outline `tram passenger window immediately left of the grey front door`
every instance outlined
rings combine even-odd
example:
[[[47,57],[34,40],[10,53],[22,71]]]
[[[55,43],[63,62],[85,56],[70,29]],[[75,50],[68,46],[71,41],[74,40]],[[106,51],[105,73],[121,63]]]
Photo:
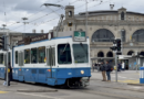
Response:
[[[38,48],[39,63],[45,63],[45,46]]]

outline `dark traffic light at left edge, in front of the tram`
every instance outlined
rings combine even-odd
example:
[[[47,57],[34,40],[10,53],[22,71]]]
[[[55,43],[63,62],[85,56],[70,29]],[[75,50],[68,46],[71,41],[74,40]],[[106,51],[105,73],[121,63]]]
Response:
[[[8,50],[8,37],[6,35],[0,37],[0,50]]]

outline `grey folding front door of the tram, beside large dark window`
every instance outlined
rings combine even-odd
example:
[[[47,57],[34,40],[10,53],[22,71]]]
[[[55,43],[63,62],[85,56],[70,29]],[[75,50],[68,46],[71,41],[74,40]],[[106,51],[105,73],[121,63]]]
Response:
[[[47,47],[47,66],[50,68],[49,70],[49,78],[52,78],[52,68],[55,66],[55,47],[54,46],[48,46]]]

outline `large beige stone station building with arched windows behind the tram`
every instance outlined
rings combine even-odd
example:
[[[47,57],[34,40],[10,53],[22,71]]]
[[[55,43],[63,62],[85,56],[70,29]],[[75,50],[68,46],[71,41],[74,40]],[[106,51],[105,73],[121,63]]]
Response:
[[[74,7],[66,6],[65,19],[60,31],[86,31],[85,14],[85,12],[74,14]],[[123,55],[132,56],[134,53],[144,55],[144,13],[127,11],[125,8],[89,11],[86,34],[90,38],[93,64],[101,61],[114,64],[115,53],[110,50],[114,38],[122,40]],[[126,69],[134,69],[127,58],[122,61],[125,62]]]

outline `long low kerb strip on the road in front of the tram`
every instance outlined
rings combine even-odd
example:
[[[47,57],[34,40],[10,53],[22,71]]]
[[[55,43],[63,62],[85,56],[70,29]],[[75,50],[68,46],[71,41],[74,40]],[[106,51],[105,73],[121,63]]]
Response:
[[[18,92],[56,92],[58,90],[44,90],[44,89],[21,89],[17,90]]]

